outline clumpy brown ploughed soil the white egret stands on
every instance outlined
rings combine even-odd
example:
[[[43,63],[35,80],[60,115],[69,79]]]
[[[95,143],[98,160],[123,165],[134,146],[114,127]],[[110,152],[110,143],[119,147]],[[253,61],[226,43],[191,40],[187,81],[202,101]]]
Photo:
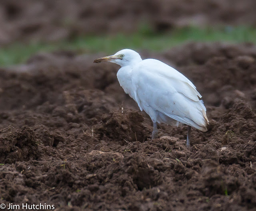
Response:
[[[207,132],[152,124],[118,66],[72,52],[0,70],[0,203],[58,210],[256,210],[256,46],[189,43],[160,54],[192,80]],[[15,71],[14,71],[15,69]],[[123,108],[123,109],[122,109]]]

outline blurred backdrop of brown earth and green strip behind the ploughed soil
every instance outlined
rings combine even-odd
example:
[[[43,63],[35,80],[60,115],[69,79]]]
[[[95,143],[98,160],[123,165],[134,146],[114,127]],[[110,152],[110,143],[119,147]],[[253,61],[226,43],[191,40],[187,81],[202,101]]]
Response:
[[[255,0],[1,0],[0,65],[38,51],[163,50],[187,41],[256,42]]]

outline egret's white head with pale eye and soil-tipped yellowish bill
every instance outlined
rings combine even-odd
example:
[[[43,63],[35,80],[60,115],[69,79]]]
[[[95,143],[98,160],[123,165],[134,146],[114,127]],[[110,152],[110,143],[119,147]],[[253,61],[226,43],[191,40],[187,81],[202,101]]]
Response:
[[[98,59],[95,59],[94,63],[100,63],[103,61],[109,61],[112,63],[116,63],[120,65],[121,67],[128,66],[128,65],[134,65],[135,63],[138,63],[142,61],[140,54],[138,54],[136,51],[133,51],[131,49],[122,49],[111,56],[105,56]]]

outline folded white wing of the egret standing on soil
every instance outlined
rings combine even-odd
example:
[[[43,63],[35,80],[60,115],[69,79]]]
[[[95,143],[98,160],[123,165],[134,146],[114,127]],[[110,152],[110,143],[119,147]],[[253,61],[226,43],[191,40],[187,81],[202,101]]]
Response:
[[[199,130],[207,130],[206,108],[198,99],[202,96],[174,68],[156,59],[145,59],[133,68],[131,81],[135,101],[151,118],[156,118],[152,110],[158,111]]]

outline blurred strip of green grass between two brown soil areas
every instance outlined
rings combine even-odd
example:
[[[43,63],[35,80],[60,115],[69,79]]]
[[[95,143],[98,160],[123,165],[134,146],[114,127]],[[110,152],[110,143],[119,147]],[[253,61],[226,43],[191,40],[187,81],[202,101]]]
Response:
[[[0,66],[24,63],[31,55],[39,51],[72,50],[80,54],[100,51],[114,54],[123,48],[160,51],[188,41],[256,43],[256,28],[246,26],[226,26],[217,29],[186,27],[156,34],[149,27],[142,26],[138,32],[128,35],[88,35],[51,43],[13,43],[0,48]]]

